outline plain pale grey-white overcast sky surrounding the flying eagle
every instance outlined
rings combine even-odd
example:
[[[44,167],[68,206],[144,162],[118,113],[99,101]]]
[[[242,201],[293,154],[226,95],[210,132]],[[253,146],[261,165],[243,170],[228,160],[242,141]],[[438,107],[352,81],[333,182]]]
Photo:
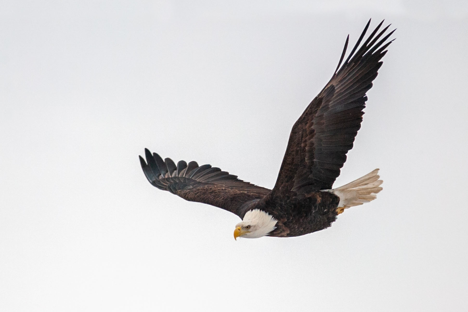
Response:
[[[1,311],[466,311],[466,1],[2,1]],[[398,28],[324,231],[151,186],[138,155],[273,187],[346,35]]]

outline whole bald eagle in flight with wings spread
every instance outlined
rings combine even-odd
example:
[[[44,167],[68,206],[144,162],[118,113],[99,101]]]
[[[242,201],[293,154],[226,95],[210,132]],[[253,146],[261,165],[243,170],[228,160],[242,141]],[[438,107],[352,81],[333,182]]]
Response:
[[[349,35],[331,80],[294,123],[273,189],[237,178],[217,167],[197,162],[177,165],[145,149],[141,167],[148,181],[188,201],[207,203],[241,218],[234,239],[292,237],[320,231],[346,208],[367,203],[382,190],[378,171],[332,189],[361,126],[366,92],[372,87],[380,59],[395,39],[380,32],[382,22],[364,43],[369,22],[344,60]],[[380,40],[379,40],[380,39]]]

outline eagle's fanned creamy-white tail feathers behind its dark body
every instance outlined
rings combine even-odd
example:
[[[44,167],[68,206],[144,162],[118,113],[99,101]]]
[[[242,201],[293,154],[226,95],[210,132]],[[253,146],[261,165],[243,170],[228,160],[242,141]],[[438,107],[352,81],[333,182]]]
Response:
[[[369,203],[377,198],[375,194],[382,190],[380,184],[383,183],[379,178],[379,169],[375,169],[357,180],[329,190],[329,192],[340,197],[340,203],[338,203],[337,208],[338,213],[343,212],[346,208]]]

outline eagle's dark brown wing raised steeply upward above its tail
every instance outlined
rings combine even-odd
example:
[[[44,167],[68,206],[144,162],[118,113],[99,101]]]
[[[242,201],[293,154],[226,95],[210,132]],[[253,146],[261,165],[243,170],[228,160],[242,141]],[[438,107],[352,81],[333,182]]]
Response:
[[[331,189],[340,174],[361,127],[366,92],[377,77],[385,49],[393,41],[386,42],[393,31],[383,36],[390,25],[377,34],[382,21],[358,49],[370,22],[340,67],[348,36],[333,77],[294,123],[272,194]]]

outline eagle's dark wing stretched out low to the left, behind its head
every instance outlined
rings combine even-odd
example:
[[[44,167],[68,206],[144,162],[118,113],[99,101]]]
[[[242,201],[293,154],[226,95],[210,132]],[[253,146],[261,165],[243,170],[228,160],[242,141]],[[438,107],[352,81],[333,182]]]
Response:
[[[145,149],[145,160],[139,156],[141,168],[148,181],[191,202],[207,203],[243,217],[242,204],[260,199],[270,189],[237,179],[236,175],[210,165],[198,166],[181,160],[177,165],[170,158],[162,160]]]

